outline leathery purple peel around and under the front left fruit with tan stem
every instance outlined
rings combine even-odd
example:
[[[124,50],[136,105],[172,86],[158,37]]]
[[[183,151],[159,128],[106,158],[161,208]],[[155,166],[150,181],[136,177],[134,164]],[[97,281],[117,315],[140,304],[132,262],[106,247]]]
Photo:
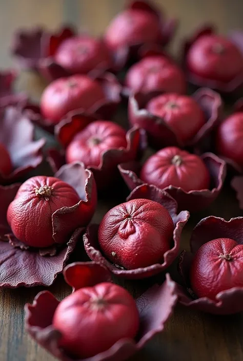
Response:
[[[57,274],[62,272],[76,243],[82,237],[83,226],[89,223],[94,214],[95,182],[92,173],[85,169],[84,165],[66,165],[60,168],[55,176],[69,183],[76,190],[80,201],[75,206],[63,207],[52,215],[53,238],[56,244],[49,248],[27,247],[13,236],[6,215],[20,184],[0,186],[0,287],[50,286]],[[71,237],[64,239],[64,235],[67,235],[67,225],[69,227],[70,222],[77,222],[78,219],[77,229]],[[83,224],[80,223],[80,219]]]

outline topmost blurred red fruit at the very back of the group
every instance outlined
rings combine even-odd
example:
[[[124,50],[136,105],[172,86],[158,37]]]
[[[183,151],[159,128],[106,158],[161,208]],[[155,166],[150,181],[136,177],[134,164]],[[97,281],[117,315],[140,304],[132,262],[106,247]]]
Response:
[[[108,26],[105,35],[106,43],[112,49],[157,43],[159,38],[157,16],[147,11],[132,9],[118,14]]]

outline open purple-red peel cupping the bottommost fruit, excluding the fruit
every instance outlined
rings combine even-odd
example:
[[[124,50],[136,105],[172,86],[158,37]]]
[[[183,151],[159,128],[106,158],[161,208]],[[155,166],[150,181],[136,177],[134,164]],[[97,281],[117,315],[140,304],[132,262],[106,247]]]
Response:
[[[65,268],[64,277],[68,284],[77,290],[110,281],[111,273],[102,263],[76,262]],[[120,339],[109,350],[86,361],[105,361],[108,358],[111,361],[123,361],[143,348],[156,333],[163,331],[177,302],[175,285],[167,274],[163,285],[154,285],[136,300],[140,315],[136,340]],[[38,293],[32,305],[25,305],[26,329],[35,341],[53,356],[62,361],[72,361],[73,358],[58,347],[62,335],[52,326],[53,314],[58,304],[59,301],[49,291]]]

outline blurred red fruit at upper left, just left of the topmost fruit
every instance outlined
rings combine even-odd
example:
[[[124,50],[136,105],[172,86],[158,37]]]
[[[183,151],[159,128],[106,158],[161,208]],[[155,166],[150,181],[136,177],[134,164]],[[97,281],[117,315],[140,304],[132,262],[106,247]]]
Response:
[[[56,62],[73,74],[87,74],[102,65],[108,69],[110,55],[102,41],[89,36],[74,36],[63,41],[55,54]]]

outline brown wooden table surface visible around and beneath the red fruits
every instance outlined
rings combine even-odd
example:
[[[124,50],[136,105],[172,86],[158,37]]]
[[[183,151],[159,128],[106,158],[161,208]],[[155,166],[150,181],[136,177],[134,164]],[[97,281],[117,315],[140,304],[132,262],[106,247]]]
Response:
[[[8,53],[13,31],[18,27],[45,25],[55,29],[62,23],[72,23],[80,29],[88,29],[99,34],[110,19],[122,9],[124,0],[0,0],[0,68],[14,66]],[[219,31],[243,30],[242,0],[155,0],[162,4],[171,16],[181,19],[173,52],[178,50],[178,42],[200,23],[215,22]],[[36,75],[22,74],[21,88],[30,96],[38,98],[43,87]],[[95,221],[99,221],[106,211],[122,202],[119,200],[100,201]],[[1,204],[1,200],[0,200]],[[224,192],[207,210],[193,215],[187,225],[181,248],[188,248],[190,233],[203,217],[215,215],[227,220],[242,216],[237,207],[233,191],[226,186]],[[173,269],[172,269],[172,272]],[[160,276],[160,279],[164,276]],[[124,282],[123,284],[138,295],[152,281]],[[23,307],[32,302],[40,287],[15,290],[0,290],[0,361],[51,361],[54,358],[38,347],[24,329]],[[70,293],[62,277],[49,288],[58,299]],[[243,360],[243,317],[212,316],[190,311],[177,306],[167,324],[166,331],[157,335],[146,348],[130,361],[241,361]]]

